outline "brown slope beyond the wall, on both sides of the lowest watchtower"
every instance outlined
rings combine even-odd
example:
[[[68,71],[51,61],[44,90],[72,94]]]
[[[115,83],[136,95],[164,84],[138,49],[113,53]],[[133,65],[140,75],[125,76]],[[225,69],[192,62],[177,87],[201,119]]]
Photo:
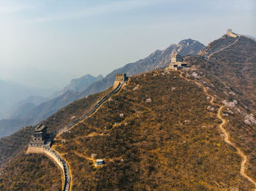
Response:
[[[86,98],[74,101],[72,104],[69,104],[52,116],[48,117],[48,119],[43,121],[43,123],[48,125],[48,133],[64,128],[64,126],[69,124],[69,122],[72,122],[83,114],[86,114],[91,106],[108,93],[108,91],[110,90],[106,90],[103,93],[89,95]],[[25,127],[18,130],[16,133],[13,133],[11,136],[0,139],[0,168],[28,147],[33,128],[35,127]]]

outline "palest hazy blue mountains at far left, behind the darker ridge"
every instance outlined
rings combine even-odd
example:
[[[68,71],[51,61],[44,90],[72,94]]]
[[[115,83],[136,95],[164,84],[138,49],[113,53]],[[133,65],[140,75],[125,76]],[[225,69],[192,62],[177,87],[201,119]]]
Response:
[[[86,74],[83,77],[72,79],[70,84],[55,93],[53,90],[40,90],[39,88],[25,87],[15,82],[0,81],[0,87],[3,91],[1,95],[1,112],[2,119],[0,120],[0,137],[10,135],[18,128],[25,125],[33,125],[33,120],[26,116],[39,104],[45,103],[53,98],[61,96],[64,93],[77,93],[84,90],[91,83],[102,79],[102,75],[93,77]],[[52,93],[50,95],[50,93]],[[34,115],[31,114],[31,117]]]

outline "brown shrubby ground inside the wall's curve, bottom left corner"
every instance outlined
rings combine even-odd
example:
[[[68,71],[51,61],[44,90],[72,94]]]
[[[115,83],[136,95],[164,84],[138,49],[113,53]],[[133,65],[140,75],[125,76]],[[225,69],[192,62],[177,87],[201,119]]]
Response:
[[[61,169],[45,155],[21,155],[0,174],[0,190],[61,190]]]

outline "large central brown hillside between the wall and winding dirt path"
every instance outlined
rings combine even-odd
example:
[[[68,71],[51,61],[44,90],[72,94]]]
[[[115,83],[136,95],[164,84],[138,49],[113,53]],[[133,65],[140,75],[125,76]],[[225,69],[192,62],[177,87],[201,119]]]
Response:
[[[178,73],[133,77],[112,99],[54,144],[72,169],[73,190],[252,187],[239,174],[236,150],[219,135],[217,108],[209,112],[203,90]],[[92,154],[106,165],[95,168]]]

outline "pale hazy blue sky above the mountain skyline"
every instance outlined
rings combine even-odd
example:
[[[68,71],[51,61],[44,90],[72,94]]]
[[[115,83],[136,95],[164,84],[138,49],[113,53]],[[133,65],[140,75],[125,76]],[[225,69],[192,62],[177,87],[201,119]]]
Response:
[[[62,87],[182,39],[256,36],[255,0],[0,0],[0,79]]]

